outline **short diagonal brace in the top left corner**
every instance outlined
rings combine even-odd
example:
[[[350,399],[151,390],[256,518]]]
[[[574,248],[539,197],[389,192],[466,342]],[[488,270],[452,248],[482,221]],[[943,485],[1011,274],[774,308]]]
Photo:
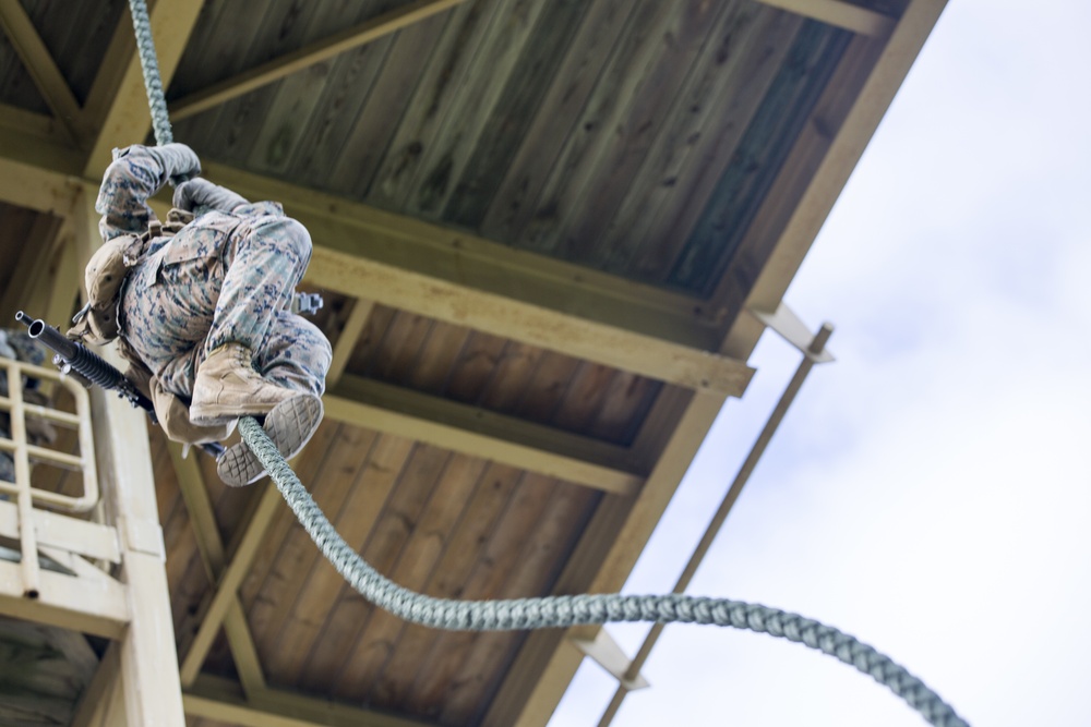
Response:
[[[72,89],[69,88],[68,82],[57,68],[46,44],[38,36],[26,11],[15,0],[0,2],[0,29],[15,47],[15,52],[19,53],[23,65],[34,78],[34,84],[41,92],[41,97],[57,120],[71,138],[83,138],[87,130],[84,126],[80,104],[75,100]]]

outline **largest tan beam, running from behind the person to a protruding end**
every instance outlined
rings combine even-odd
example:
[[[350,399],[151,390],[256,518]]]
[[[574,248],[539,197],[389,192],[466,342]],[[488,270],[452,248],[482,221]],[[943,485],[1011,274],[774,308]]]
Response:
[[[37,182],[50,204],[61,174],[0,160]],[[211,179],[252,199],[287,199],[315,241],[307,280],[687,388],[739,396],[753,371],[709,352],[714,322],[697,299],[507,249],[220,165]],[[40,180],[40,181],[39,181]],[[91,184],[91,181],[82,182]],[[17,185],[12,185],[17,186]],[[3,182],[0,182],[0,198]]]

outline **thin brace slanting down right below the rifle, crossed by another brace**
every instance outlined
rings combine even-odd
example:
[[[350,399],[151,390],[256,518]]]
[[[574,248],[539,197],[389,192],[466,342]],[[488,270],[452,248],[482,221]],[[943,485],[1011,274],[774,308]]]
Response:
[[[208,582],[215,585],[219,582],[226,566],[224,542],[219,536],[216,513],[208,498],[201,467],[193,458],[182,458],[181,445],[170,443],[168,450],[175,474],[178,476],[178,488],[190,513],[190,524],[193,526]],[[250,625],[247,622],[245,611],[238,595],[235,595],[228,604],[224,616],[224,631],[227,634],[228,649],[231,650],[236,670],[239,673],[239,681],[245,693],[254,694],[265,689],[265,677],[262,674],[257,647],[254,645],[254,638],[250,633]]]

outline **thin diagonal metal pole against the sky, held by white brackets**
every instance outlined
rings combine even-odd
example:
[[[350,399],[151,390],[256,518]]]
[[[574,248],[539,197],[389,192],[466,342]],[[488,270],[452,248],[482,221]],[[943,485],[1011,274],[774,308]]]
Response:
[[[672,593],[685,593],[686,587],[690,585],[690,581],[693,580],[694,573],[697,572],[697,568],[705,559],[705,555],[708,553],[709,547],[711,547],[712,541],[716,540],[724,520],[728,519],[728,512],[731,511],[735,500],[739,499],[739,495],[746,485],[746,481],[750,480],[751,475],[754,473],[754,469],[757,467],[758,461],[760,461],[762,455],[765,453],[766,447],[769,446],[772,435],[777,433],[777,428],[783,421],[784,414],[788,413],[788,408],[792,405],[792,401],[795,400],[795,395],[800,392],[803,381],[806,380],[807,374],[811,373],[811,368],[815,363],[814,358],[822,353],[823,349],[826,348],[826,342],[829,340],[832,332],[834,327],[830,324],[823,324],[822,328],[818,329],[818,332],[815,334],[815,337],[811,340],[811,344],[807,347],[808,355],[804,355],[803,361],[800,362],[799,367],[795,369],[795,375],[792,376],[792,379],[788,383],[788,387],[784,389],[784,392],[780,396],[780,400],[774,408],[772,413],[769,414],[769,419],[765,423],[762,434],[758,435],[757,440],[754,441],[754,446],[751,447],[750,453],[746,456],[742,467],[739,469],[739,473],[735,475],[734,482],[731,483],[731,487],[728,489],[727,494],[724,494],[719,509],[717,509],[716,514],[712,516],[711,522],[708,523],[705,534],[702,535],[700,542],[697,543],[697,547],[694,549],[693,555],[690,556],[690,562],[686,564],[685,569],[683,569],[682,574],[679,577],[678,583],[674,584]],[[648,631],[648,635],[645,637],[639,651],[637,651],[636,656],[633,657],[633,662],[628,665],[624,677],[619,682],[618,691],[614,692],[613,699],[610,700],[610,704],[602,713],[602,717],[599,719],[599,727],[608,727],[610,723],[613,722],[614,716],[618,714],[618,710],[621,708],[621,703],[625,700],[625,696],[630,691],[625,688],[625,683],[632,682],[636,679],[637,675],[640,674],[640,669],[644,668],[644,664],[648,661],[651,650],[655,647],[656,642],[659,641],[659,637],[662,634],[664,626],[664,623],[656,623],[651,627],[651,630]]]

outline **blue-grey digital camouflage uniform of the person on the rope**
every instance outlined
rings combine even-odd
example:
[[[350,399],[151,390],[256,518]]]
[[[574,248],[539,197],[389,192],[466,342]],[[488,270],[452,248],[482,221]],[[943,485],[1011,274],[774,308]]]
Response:
[[[99,191],[104,240],[148,229],[145,201],[166,181],[140,146],[115,153]],[[288,312],[311,257],[307,229],[275,202],[199,214],[173,237],[148,242],[129,274],[119,322],[163,388],[191,397],[209,352],[240,343],[267,380],[321,396],[332,352],[321,330]]]

